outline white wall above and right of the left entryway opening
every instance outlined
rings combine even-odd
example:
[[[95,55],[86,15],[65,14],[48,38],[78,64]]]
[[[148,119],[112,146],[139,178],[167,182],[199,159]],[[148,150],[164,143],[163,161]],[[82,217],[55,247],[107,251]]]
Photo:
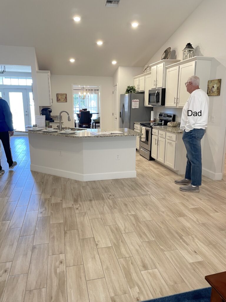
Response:
[[[4,64],[31,66],[35,114],[39,115],[38,90],[36,79],[36,70],[38,69],[38,63],[34,47],[0,45],[0,65]]]

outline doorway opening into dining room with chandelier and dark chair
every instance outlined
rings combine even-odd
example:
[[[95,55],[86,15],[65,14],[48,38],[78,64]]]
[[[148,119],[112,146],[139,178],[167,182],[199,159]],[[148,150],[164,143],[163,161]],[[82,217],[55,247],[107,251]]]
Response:
[[[100,127],[100,86],[73,85],[73,112],[75,127],[80,124],[81,111],[90,112],[89,127]]]

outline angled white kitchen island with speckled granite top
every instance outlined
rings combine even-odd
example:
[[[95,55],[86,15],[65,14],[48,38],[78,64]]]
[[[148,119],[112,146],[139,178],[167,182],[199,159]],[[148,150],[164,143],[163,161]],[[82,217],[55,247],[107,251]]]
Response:
[[[92,132],[121,131],[93,135]],[[79,181],[136,177],[136,131],[77,129],[74,134],[28,132],[30,169]]]

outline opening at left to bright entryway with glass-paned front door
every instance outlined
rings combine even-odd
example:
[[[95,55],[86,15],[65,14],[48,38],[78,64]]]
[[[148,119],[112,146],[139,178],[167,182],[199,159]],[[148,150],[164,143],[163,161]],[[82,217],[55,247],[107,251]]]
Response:
[[[3,65],[2,65],[3,66]],[[0,97],[7,101],[13,115],[14,129],[35,124],[30,66],[4,65],[0,74]],[[2,70],[0,68],[0,72]],[[15,132],[14,135],[24,133]]]

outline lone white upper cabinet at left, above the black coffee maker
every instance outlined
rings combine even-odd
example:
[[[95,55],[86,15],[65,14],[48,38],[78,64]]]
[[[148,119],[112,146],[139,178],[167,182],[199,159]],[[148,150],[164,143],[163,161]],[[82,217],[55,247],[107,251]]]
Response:
[[[50,71],[37,70],[36,76],[37,76],[39,106],[51,106],[52,93],[51,93]]]

